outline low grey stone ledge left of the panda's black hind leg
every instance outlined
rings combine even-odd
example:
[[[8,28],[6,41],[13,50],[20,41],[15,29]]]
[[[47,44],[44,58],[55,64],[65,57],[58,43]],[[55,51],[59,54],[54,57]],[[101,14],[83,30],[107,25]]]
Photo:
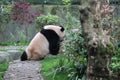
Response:
[[[0,52],[0,63],[19,59],[21,53],[22,52],[18,50],[8,50],[7,52]]]

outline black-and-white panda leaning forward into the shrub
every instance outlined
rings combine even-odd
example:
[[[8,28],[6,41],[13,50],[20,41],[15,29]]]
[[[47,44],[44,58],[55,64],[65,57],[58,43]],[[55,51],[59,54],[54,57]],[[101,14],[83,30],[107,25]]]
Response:
[[[21,61],[42,60],[50,53],[57,55],[60,42],[64,40],[65,30],[62,26],[46,25],[38,32],[21,55]]]

